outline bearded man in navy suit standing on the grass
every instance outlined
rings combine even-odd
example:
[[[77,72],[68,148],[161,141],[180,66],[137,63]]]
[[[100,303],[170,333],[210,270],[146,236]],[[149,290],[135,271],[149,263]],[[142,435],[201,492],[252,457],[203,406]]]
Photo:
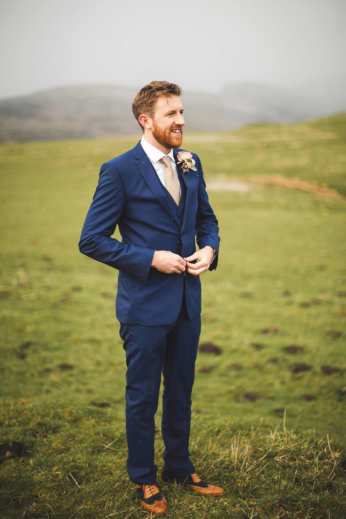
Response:
[[[199,275],[216,268],[219,237],[200,160],[178,155],[185,124],[180,95],[181,88],[167,81],[153,81],[136,95],[132,111],[142,140],[101,167],[79,242],[82,253],[119,270],[128,473],[141,505],[160,515],[168,510],[154,463],[161,371],[162,481],[197,494],[224,494],[199,478],[188,451],[201,328]],[[111,238],[117,225],[121,242]]]

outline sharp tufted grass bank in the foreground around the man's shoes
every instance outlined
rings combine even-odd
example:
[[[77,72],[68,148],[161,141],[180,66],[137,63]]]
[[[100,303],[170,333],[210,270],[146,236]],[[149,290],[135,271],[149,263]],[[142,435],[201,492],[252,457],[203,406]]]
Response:
[[[2,517],[148,516],[129,485],[124,426],[112,411],[36,404],[2,412],[4,439],[27,445],[23,457],[1,466]],[[198,471],[227,495],[206,499],[164,485],[168,517],[343,519],[345,458],[333,441],[215,417],[193,417],[191,436]],[[162,452],[158,433],[160,471]]]

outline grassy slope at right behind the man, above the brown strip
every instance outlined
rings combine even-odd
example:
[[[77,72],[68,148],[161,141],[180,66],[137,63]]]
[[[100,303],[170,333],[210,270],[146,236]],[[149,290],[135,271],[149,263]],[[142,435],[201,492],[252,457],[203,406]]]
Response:
[[[238,178],[280,174],[346,195],[346,113],[295,125],[253,125],[184,141],[209,173]],[[191,143],[191,144],[190,144]]]

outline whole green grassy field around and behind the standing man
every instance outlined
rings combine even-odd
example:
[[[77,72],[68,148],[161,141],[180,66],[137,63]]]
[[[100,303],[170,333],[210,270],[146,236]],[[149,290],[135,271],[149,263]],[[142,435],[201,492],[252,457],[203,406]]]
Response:
[[[345,115],[186,135],[207,181],[297,176],[341,197],[210,193],[222,241],[201,277],[191,457],[227,497],[168,486],[169,517],[346,516],[345,136]],[[101,163],[135,142],[0,147],[2,517],[145,516],[126,473],[117,271],[77,247]],[[159,469],[161,453],[158,432]]]

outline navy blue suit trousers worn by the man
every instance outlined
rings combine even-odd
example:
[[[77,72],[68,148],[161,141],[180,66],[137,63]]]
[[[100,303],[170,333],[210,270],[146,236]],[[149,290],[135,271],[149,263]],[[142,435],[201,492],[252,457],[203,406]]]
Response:
[[[188,319],[183,305],[177,320],[163,326],[120,323],[126,351],[127,468],[136,484],[156,482],[155,413],[163,374],[162,438],[165,472],[195,472],[189,458],[191,391],[201,331],[200,316]]]

